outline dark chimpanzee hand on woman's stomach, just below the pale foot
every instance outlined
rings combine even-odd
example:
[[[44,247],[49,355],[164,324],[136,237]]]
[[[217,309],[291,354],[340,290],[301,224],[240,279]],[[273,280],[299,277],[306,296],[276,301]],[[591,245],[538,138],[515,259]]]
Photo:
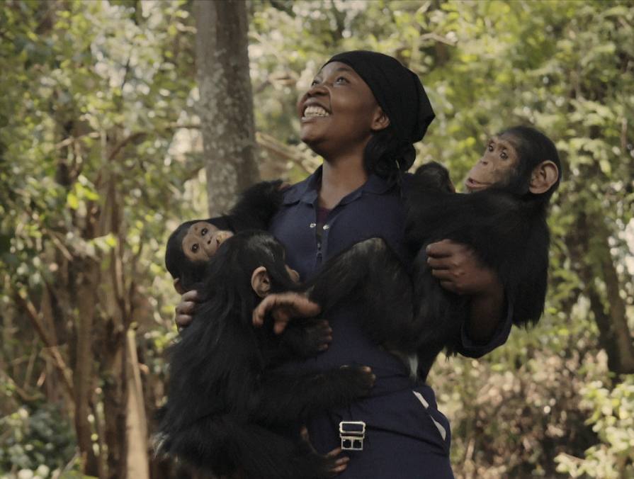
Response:
[[[328,349],[332,342],[332,328],[327,320],[303,320],[285,329],[281,344],[291,356],[310,358]]]

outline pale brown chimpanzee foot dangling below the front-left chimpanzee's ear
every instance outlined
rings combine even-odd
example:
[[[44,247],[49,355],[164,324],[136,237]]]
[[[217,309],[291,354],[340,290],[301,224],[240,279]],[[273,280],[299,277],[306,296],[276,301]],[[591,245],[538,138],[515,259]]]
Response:
[[[322,311],[322,308],[302,293],[270,294],[253,310],[253,325],[256,327],[263,325],[268,311],[271,311],[275,321],[273,331],[281,334],[293,317],[314,317]]]

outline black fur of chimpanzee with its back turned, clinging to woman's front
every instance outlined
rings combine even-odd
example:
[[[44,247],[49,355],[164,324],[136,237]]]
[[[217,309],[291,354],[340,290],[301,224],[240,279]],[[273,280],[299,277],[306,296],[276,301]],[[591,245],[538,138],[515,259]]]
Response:
[[[255,328],[251,318],[260,301],[250,281],[258,266],[266,267],[271,292],[298,291],[283,247],[268,233],[241,232],[220,245],[197,288],[203,303],[171,349],[159,452],[216,475],[330,477],[335,458],[276,430],[367,395],[373,375],[356,366],[295,375],[271,371],[279,338],[270,324]]]

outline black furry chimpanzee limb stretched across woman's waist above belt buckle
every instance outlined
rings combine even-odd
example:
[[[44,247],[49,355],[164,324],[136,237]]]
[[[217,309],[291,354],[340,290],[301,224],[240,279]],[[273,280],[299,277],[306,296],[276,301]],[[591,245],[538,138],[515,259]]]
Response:
[[[368,395],[374,384],[369,368],[346,366],[322,373],[268,373],[250,407],[255,422],[296,422],[310,412],[348,405]]]

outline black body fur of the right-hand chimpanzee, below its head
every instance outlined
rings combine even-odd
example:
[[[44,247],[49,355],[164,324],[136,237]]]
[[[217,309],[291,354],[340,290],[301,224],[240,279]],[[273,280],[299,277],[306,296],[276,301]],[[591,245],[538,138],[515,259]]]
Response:
[[[421,167],[407,193],[407,239],[421,246],[413,282],[418,300],[414,321],[419,330],[419,376],[423,378],[443,347],[455,352],[469,314],[468,296],[447,291],[432,276],[426,261],[428,244],[451,239],[472,247],[482,263],[497,272],[515,325],[539,320],[548,283],[550,194],[518,193],[516,184],[451,193],[448,174],[439,175],[439,169],[445,170],[436,163]],[[528,184],[528,177],[523,182]]]

